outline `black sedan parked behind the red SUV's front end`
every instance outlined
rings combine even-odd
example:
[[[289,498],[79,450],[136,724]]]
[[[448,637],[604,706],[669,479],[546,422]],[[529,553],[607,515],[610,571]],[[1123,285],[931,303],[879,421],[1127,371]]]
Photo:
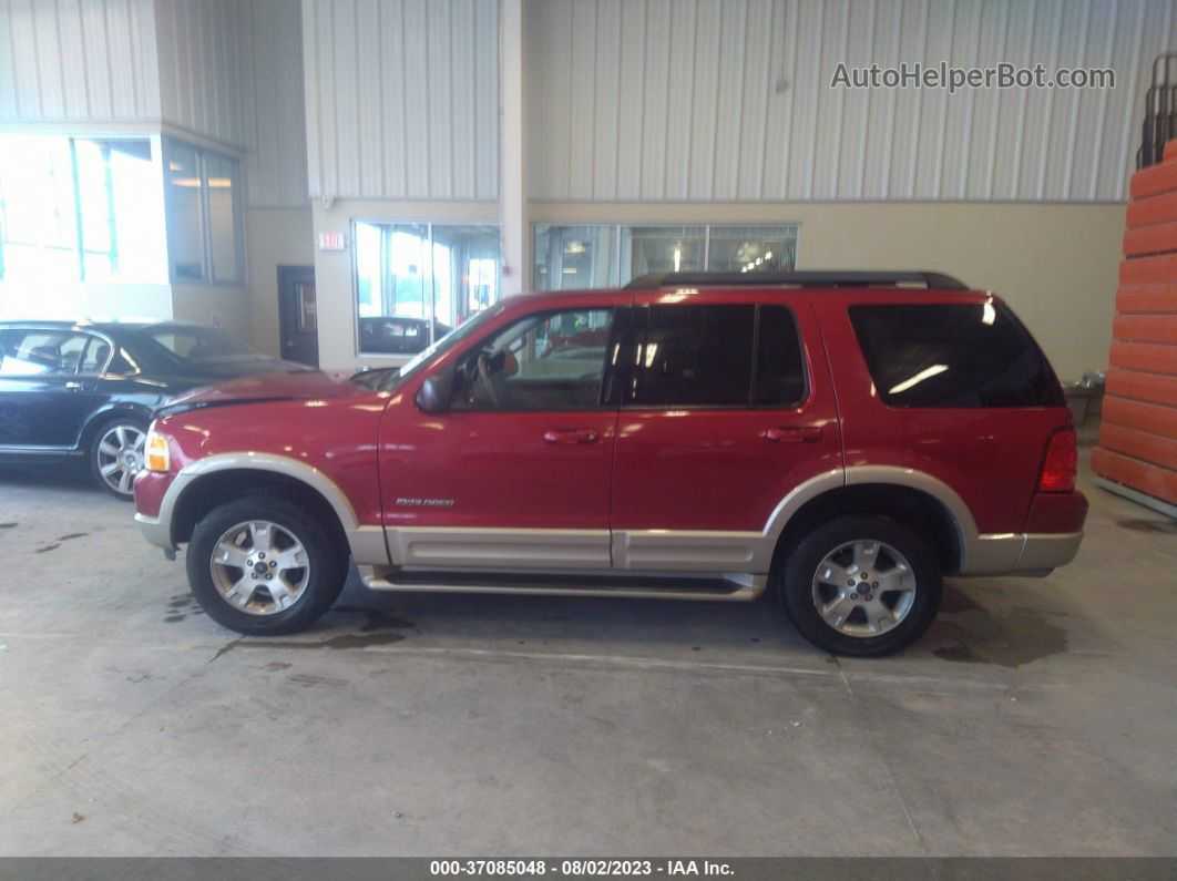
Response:
[[[0,463],[86,456],[99,486],[132,498],[152,411],[180,392],[308,369],[212,327],[179,322],[0,322]]]

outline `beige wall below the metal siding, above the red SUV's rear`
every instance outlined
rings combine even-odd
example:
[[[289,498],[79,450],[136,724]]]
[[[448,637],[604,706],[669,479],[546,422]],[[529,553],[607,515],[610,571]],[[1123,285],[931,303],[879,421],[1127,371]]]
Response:
[[[937,269],[1005,299],[1060,379],[1104,369],[1124,206],[533,202],[532,222],[799,222],[799,269]]]

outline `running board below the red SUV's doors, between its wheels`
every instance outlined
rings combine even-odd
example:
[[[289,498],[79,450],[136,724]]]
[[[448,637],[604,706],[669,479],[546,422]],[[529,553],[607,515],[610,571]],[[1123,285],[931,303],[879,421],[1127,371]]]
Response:
[[[360,566],[370,590],[428,593],[537,594],[566,596],[630,596],[661,600],[754,600],[764,593],[767,575],[698,574],[649,575],[630,573],[444,572]]]

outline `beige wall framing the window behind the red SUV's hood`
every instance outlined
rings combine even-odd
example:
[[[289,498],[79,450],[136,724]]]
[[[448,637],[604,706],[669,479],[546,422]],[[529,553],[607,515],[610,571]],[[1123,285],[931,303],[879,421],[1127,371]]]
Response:
[[[340,232],[344,251],[314,252],[314,282],[319,301],[319,366],[353,369],[404,363],[395,355],[365,355],[355,349],[355,293],[352,282],[352,220],[497,221],[498,202],[400,202],[339,200],[330,208],[314,202],[314,232]]]

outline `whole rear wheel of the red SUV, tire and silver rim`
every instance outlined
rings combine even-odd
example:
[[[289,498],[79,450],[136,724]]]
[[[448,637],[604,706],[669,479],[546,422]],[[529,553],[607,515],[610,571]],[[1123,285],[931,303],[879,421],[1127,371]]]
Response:
[[[842,655],[892,654],[919,639],[940,607],[936,554],[912,529],[880,516],[844,516],[790,555],[782,593],[793,625]]]

